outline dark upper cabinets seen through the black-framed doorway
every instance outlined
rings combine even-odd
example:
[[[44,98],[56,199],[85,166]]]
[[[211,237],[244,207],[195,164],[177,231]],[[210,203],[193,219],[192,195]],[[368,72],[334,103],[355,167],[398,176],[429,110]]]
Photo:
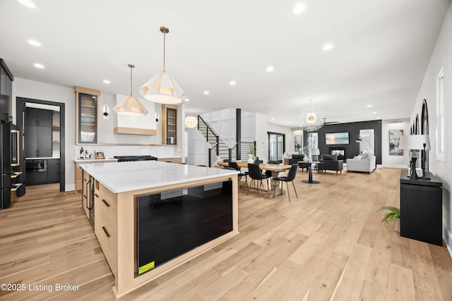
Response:
[[[25,111],[25,158],[52,156],[53,111],[27,108]]]

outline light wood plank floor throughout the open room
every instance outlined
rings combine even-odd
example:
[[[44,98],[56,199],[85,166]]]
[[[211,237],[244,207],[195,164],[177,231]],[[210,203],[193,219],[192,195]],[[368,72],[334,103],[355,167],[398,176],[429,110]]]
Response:
[[[321,184],[309,185],[299,171],[291,203],[241,188],[239,235],[121,300],[452,300],[446,247],[381,223],[376,209],[399,204],[399,173],[314,173]],[[57,191],[28,187],[0,211],[0,283],[26,285],[0,291],[0,300],[114,299],[80,195]],[[78,291],[55,291],[56,283]]]

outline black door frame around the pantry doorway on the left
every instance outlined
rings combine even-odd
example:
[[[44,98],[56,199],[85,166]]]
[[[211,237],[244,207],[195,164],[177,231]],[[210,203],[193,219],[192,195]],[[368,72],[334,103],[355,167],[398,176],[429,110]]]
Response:
[[[48,104],[50,106],[59,106],[59,191],[64,192],[65,186],[66,186],[66,155],[64,152],[65,149],[65,141],[64,141],[64,103],[62,102],[49,102],[48,100],[40,100],[40,99],[31,99],[31,98],[25,98],[25,97],[16,97],[16,123],[22,133],[21,139],[20,139],[20,149],[22,152],[22,158],[24,161],[24,164],[20,164],[20,171],[22,171],[23,179],[24,179],[24,194],[25,194],[25,184],[26,184],[26,178],[25,178],[25,147],[24,147],[24,123],[23,120],[23,110],[25,109],[25,103],[31,103],[31,104]]]

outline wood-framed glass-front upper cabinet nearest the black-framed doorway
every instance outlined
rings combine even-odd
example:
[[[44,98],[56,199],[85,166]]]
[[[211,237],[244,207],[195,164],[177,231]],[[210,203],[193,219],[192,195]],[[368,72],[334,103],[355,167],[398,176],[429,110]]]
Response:
[[[97,144],[99,90],[76,87],[77,144]]]

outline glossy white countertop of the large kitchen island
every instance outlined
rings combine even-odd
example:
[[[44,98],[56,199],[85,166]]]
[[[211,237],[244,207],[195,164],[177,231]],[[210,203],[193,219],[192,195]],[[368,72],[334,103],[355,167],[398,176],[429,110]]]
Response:
[[[80,167],[114,193],[164,185],[208,180],[238,174],[223,168],[208,168],[162,161],[128,161],[81,164]]]

